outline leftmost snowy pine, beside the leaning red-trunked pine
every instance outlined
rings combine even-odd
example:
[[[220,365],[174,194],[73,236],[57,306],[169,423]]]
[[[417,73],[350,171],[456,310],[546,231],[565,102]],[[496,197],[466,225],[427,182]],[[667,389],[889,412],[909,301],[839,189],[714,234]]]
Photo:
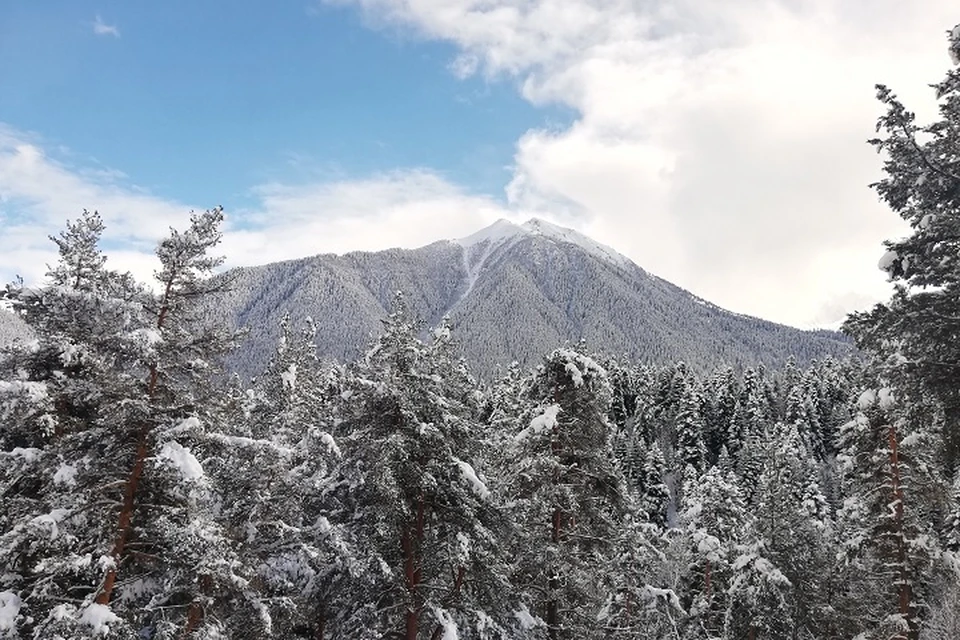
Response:
[[[87,637],[131,632],[93,602],[110,531],[111,404],[129,398],[151,350],[145,292],[105,269],[103,223],[84,211],[59,237],[59,260],[39,287],[4,297],[35,341],[0,356],[0,589],[14,603],[12,633]],[[108,625],[109,623],[109,625]]]

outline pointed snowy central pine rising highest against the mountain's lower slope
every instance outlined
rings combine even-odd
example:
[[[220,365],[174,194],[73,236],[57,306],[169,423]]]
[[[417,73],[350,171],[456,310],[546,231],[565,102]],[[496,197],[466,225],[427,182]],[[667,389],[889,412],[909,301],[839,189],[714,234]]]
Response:
[[[363,545],[369,580],[340,594],[332,631],[525,637],[532,627],[513,613],[494,496],[473,464],[479,428],[442,376],[452,365],[417,333],[398,294],[346,383],[335,491],[345,506],[331,517],[345,518]]]

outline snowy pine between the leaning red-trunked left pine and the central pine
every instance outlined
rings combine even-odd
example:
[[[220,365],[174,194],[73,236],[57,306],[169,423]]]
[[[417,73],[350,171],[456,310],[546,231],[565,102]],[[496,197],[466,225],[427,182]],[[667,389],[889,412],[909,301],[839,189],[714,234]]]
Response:
[[[360,565],[349,530],[328,516],[327,499],[340,460],[333,438],[334,375],[322,367],[307,319],[295,332],[284,318],[274,358],[252,388],[236,393],[216,454],[205,462],[222,478],[218,519],[238,541],[238,555],[262,592],[262,607],[238,607],[231,638],[256,638],[269,616],[274,635],[320,640],[333,592]]]

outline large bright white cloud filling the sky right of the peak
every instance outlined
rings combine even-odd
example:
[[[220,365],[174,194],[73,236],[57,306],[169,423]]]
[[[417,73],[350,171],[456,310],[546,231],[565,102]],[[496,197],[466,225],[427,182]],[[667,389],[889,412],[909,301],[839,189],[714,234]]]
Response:
[[[832,323],[825,310],[852,308],[828,301],[886,295],[875,256],[904,227],[866,187],[873,85],[931,113],[954,3],[338,1],[455,44],[457,75],[512,77],[531,103],[579,114],[518,141],[512,207],[783,322]]]

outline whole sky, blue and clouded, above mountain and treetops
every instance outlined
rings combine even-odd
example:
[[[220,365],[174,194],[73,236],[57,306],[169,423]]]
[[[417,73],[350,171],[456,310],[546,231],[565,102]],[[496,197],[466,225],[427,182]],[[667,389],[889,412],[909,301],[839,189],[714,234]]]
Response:
[[[576,228],[716,304],[833,325],[889,294],[866,185],[956,0],[0,0],[0,281],[83,208],[148,278],[191,208],[227,264]]]

